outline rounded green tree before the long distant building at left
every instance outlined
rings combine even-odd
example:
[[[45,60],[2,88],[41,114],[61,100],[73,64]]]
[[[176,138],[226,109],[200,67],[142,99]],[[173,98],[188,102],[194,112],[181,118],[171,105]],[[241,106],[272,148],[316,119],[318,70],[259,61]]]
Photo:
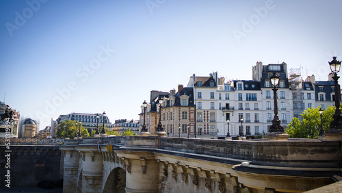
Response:
[[[64,120],[58,127],[56,136],[57,138],[64,138],[64,126],[65,126],[65,138],[73,139],[75,137],[76,121]],[[79,121],[77,121],[77,133],[79,133]],[[89,132],[81,125],[81,136],[89,137]]]

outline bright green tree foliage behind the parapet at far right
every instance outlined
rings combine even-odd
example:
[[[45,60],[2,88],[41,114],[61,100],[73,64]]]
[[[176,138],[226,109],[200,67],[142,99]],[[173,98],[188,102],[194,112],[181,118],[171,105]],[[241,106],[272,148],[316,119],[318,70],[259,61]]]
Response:
[[[335,107],[329,106],[322,114],[322,123],[324,131],[327,131],[332,121]],[[319,107],[313,109],[308,108],[302,114],[302,121],[298,118],[293,118],[289,125],[287,125],[286,133],[290,138],[317,138],[319,130],[321,129],[321,116],[319,114]]]

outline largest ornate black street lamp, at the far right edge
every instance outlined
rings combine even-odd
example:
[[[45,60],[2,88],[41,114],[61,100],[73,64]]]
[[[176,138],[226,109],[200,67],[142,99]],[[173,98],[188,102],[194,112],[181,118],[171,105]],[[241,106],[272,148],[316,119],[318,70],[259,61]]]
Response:
[[[340,90],[339,90],[339,76],[337,76],[337,73],[339,73],[340,68],[341,68],[341,61],[336,60],[336,56],[332,57],[333,60],[329,62],[331,72],[334,73],[334,76],[332,79],[334,79],[334,89],[335,89],[335,113],[333,115],[333,120],[330,123],[330,128],[327,133],[336,133],[336,135],[341,136],[341,131],[342,131],[342,115],[341,115],[341,109],[340,109]],[[339,134],[338,134],[339,133]],[[326,135],[327,136],[327,135]],[[331,136],[328,134],[328,136]],[[341,137],[339,137],[341,140]]]

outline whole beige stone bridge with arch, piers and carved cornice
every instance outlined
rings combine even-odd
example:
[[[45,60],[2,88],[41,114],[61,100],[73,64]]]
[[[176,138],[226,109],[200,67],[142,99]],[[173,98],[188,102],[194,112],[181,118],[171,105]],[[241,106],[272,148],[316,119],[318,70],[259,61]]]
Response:
[[[304,192],[342,166],[339,141],[120,136],[60,149],[63,192]]]

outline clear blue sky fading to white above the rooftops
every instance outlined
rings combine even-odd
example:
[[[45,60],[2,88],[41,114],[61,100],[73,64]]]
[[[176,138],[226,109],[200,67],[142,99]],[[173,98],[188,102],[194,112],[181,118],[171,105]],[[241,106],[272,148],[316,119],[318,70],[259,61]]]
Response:
[[[338,0],[2,0],[0,101],[5,93],[44,129],[71,112],[137,119],[150,90],[186,85],[194,73],[251,79],[257,61],[326,80],[332,55],[342,60],[341,8]]]

